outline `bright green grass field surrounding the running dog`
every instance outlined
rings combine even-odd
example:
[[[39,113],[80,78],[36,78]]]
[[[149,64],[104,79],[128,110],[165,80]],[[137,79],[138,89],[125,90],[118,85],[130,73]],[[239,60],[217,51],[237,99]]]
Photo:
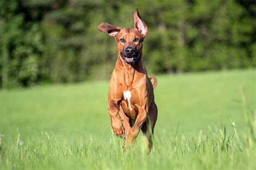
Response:
[[[255,69],[157,78],[151,153],[122,150],[107,81],[1,91],[0,169],[256,168]]]

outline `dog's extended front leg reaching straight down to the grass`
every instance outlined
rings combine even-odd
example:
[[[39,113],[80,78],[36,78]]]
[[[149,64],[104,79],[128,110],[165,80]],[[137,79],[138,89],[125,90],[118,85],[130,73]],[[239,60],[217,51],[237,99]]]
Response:
[[[142,125],[146,121],[147,117],[147,111],[144,108],[138,109],[138,116],[136,118],[136,121],[132,128],[130,129],[129,133],[127,134],[124,146],[132,145],[136,139],[136,137],[139,134],[140,129],[142,128]]]

